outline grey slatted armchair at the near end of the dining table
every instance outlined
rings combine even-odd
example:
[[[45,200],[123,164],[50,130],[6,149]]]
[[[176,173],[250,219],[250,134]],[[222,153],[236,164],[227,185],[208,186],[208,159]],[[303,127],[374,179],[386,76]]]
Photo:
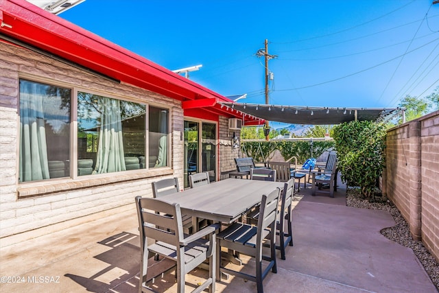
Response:
[[[154,292],[146,284],[149,253],[176,261],[179,293],[185,292],[185,275],[209,259],[209,278],[193,292],[202,292],[208,287],[209,292],[215,292],[215,231],[219,224],[207,226],[193,235],[185,235],[179,204],[137,196],[136,206],[141,240],[139,293]],[[209,239],[205,239],[206,236]],[[154,240],[154,244],[148,245],[148,240]]]

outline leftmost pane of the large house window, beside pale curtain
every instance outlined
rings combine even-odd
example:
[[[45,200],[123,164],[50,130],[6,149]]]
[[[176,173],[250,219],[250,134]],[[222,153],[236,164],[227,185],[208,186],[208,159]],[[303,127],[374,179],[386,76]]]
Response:
[[[19,182],[70,176],[71,89],[20,80]]]

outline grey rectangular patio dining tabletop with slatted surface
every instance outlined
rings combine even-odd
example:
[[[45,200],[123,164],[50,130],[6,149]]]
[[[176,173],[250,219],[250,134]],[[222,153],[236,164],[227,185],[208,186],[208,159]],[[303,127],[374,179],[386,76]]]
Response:
[[[178,203],[182,213],[213,222],[232,223],[261,202],[264,194],[283,188],[281,182],[228,178],[169,194],[160,199]]]

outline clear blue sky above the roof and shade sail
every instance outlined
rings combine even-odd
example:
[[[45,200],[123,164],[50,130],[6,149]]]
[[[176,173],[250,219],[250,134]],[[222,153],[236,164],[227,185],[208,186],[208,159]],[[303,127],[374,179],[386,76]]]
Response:
[[[433,0],[86,0],[60,14],[239,102],[392,108],[439,86],[439,4]]]

